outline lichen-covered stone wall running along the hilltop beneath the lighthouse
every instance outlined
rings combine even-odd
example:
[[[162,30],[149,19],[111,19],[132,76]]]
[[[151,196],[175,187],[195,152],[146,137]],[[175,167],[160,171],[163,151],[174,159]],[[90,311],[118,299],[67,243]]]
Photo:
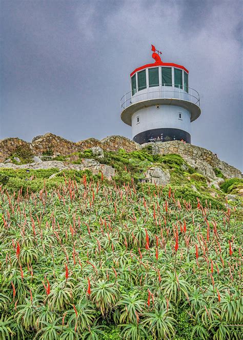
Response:
[[[171,141],[164,143],[147,143],[139,145],[130,139],[122,136],[109,136],[101,141],[95,138],[85,139],[80,142],[71,142],[65,138],[56,136],[52,133],[46,133],[34,137],[31,143],[22,141],[19,138],[6,138],[0,141],[0,162],[5,162],[10,156],[16,155],[16,151],[25,149],[25,153],[33,154],[35,156],[58,156],[58,155],[70,155],[72,154],[72,161],[75,161],[75,152],[83,152],[86,149],[93,149],[93,153],[99,153],[102,157],[103,153],[100,150],[117,151],[124,149],[127,152],[141,150],[144,147],[150,146],[152,153],[154,154],[168,154],[175,153],[185,159],[185,161],[196,169],[197,172],[206,175],[209,178],[216,179],[215,169],[219,169],[226,178],[239,177],[241,178],[241,172],[227,164],[220,161],[220,159],[211,151],[197,147],[191,144],[184,144],[180,141]],[[70,159],[71,161],[71,159]],[[37,162],[38,163],[38,162]]]

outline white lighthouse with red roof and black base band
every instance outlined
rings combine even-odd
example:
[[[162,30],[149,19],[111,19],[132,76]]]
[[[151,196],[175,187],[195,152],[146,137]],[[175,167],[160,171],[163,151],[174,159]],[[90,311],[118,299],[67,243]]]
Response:
[[[199,93],[189,87],[189,71],[161,61],[152,45],[154,62],[130,74],[130,91],[120,100],[122,121],[132,127],[133,141],[191,143],[191,122],[201,113]]]

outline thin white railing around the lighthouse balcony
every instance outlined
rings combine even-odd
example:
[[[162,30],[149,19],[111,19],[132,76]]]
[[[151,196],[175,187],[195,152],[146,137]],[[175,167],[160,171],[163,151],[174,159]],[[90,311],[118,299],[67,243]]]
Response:
[[[156,87],[146,87],[145,89],[136,92],[133,90],[125,93],[122,98],[120,98],[120,107],[123,111],[135,103],[160,98],[180,99],[200,106],[199,93],[191,87],[188,87],[187,92],[184,89],[179,88],[179,86],[159,85]]]

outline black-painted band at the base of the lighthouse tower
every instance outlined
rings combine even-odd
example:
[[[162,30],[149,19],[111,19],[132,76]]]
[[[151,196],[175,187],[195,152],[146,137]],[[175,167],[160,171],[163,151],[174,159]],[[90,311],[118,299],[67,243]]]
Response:
[[[138,144],[144,144],[148,142],[181,141],[181,139],[191,144],[191,135],[189,132],[173,128],[146,130],[136,134],[133,137],[133,141]]]

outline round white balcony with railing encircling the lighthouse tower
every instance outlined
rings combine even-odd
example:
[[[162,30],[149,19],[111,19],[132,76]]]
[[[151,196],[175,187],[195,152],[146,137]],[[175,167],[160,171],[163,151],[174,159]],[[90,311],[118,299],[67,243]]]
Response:
[[[129,91],[120,99],[121,118],[124,123],[131,125],[134,112],[154,105],[181,106],[191,112],[191,122],[200,115],[200,96],[191,87],[188,92],[175,86],[146,87],[143,90]]]

